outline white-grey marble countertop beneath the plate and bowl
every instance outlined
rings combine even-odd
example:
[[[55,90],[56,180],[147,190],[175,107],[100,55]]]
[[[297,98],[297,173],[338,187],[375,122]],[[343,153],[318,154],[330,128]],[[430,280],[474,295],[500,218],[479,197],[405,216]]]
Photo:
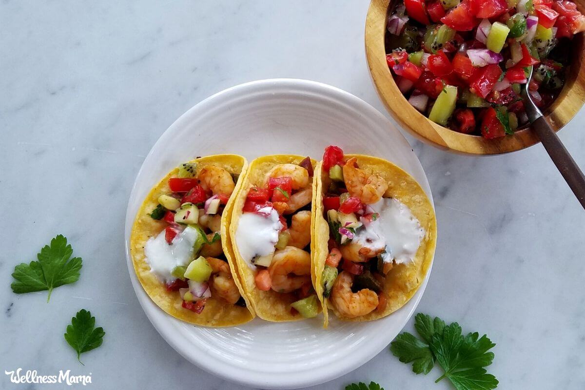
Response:
[[[246,81],[317,80],[378,101],[364,56],[367,1],[0,2],[0,369],[92,374],[92,386],[236,389],[194,367],[150,325],[130,285],[123,224],[144,156],[182,113]],[[585,167],[585,111],[559,133]],[[487,333],[502,389],[585,388],[585,212],[541,145],[448,154],[408,137],[439,224],[419,312]],[[84,260],[77,284],[15,295],[15,264],[58,233]],[[63,333],[91,310],[104,345]],[[407,330],[412,329],[412,320]],[[314,389],[376,381],[449,389],[386,349]],[[0,378],[0,388],[24,388]],[[50,387],[50,386],[49,386]],[[45,388],[37,385],[30,388]],[[56,388],[53,385],[53,388]]]

